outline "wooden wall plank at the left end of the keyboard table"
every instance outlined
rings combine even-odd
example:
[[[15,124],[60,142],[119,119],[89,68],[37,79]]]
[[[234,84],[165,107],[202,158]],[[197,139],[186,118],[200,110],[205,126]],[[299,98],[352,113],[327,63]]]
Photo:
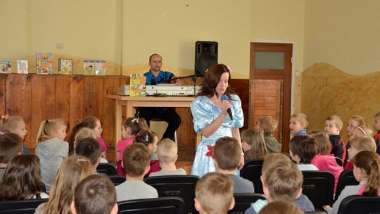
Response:
[[[116,128],[121,127],[115,127],[115,101],[111,99],[106,99],[107,94],[115,94],[114,92],[114,85],[115,85],[115,76],[106,76],[104,77],[103,82],[103,92],[101,94],[101,97],[103,97],[103,115],[102,115],[102,121],[103,121],[103,134],[102,137],[106,141],[107,146],[115,146],[116,142],[113,139],[113,133]]]

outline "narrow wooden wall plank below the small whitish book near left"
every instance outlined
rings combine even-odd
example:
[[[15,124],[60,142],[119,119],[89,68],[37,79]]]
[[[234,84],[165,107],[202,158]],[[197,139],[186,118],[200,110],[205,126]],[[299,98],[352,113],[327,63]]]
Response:
[[[32,139],[32,75],[25,74],[20,76],[23,78],[23,119],[27,130],[24,144],[27,148],[34,148],[36,142],[35,139]]]

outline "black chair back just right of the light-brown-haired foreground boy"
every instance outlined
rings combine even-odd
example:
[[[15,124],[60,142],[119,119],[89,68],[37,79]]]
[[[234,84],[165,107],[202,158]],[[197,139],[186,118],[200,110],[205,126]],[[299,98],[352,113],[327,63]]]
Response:
[[[302,171],[302,193],[308,196],[315,210],[332,205],[335,177],[328,171]]]

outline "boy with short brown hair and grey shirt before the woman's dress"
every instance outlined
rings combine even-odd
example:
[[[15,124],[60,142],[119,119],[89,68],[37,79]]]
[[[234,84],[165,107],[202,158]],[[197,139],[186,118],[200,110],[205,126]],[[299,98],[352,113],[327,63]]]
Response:
[[[233,137],[220,137],[214,146],[214,164],[217,172],[227,175],[234,181],[234,194],[254,193],[253,183],[237,176],[241,160],[241,146]]]

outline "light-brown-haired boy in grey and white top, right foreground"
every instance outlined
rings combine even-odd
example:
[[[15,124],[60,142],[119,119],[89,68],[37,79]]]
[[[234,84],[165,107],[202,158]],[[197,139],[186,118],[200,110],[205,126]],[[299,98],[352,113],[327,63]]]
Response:
[[[252,203],[246,214],[258,213],[267,203],[277,200],[293,201],[304,212],[315,211],[308,197],[302,194],[302,172],[284,154],[272,153],[265,157],[261,182],[267,200]]]

